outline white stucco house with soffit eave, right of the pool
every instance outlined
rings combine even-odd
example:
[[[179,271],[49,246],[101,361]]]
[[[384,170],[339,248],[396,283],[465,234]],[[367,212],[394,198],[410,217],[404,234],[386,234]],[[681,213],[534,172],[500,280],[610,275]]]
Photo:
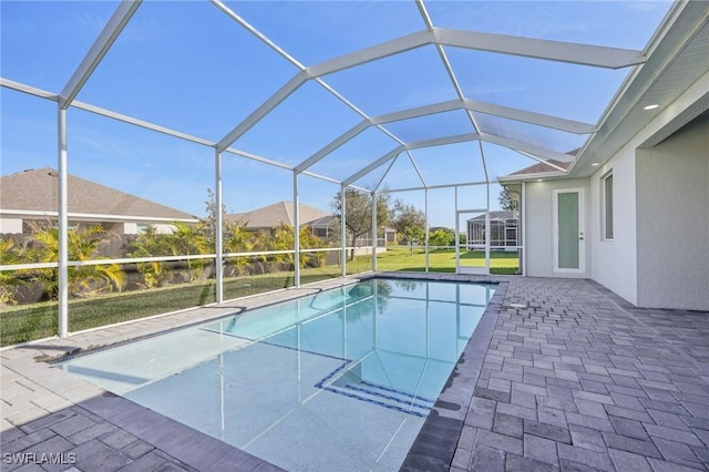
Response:
[[[537,164],[499,178],[522,202],[525,275],[589,278],[639,307],[709,310],[702,21],[657,34],[565,171]]]

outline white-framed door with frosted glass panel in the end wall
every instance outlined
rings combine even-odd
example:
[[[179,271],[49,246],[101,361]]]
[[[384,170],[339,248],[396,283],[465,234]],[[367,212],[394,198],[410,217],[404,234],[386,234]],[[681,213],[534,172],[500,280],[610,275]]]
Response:
[[[583,274],[586,260],[584,189],[563,188],[554,198],[554,270]]]

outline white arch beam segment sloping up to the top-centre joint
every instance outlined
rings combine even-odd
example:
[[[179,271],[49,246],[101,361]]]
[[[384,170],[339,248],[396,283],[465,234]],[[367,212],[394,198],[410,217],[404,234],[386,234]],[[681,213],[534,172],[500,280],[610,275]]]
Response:
[[[307,71],[311,78],[319,78],[331,74],[332,72],[353,68],[354,65],[364,64],[367,62],[372,62],[378,59],[431,44],[434,39],[432,31],[418,31],[391,41],[372,45],[371,48],[366,48],[360,51],[354,51],[352,53],[311,65]]]

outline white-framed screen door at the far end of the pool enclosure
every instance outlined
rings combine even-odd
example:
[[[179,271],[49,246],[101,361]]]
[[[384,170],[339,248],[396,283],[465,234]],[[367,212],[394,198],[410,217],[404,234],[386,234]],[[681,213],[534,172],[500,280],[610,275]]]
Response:
[[[490,274],[490,213],[461,209],[455,218],[455,273]]]

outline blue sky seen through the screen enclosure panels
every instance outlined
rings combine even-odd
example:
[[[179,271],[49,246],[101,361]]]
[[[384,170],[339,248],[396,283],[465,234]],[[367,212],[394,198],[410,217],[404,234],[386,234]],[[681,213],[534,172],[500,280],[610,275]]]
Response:
[[[240,2],[226,4],[305,65],[424,29],[413,1]],[[2,78],[58,93],[80,64],[114,1],[6,1],[1,8]],[[429,1],[436,27],[641,50],[668,10],[666,1]],[[596,123],[628,73],[445,48],[466,98]],[[78,100],[219,141],[287,82],[297,68],[206,1],[145,1]],[[323,80],[370,116],[455,99],[433,47],[343,70]],[[1,174],[56,167],[55,104],[0,90]],[[585,136],[476,114],[489,132],[558,152]],[[309,81],[235,144],[295,165],[361,121]],[[214,188],[214,150],[71,109],[69,172],[201,215]],[[472,132],[461,111],[392,123],[405,142]],[[311,170],[346,178],[397,146],[370,129]],[[491,178],[533,164],[483,144]],[[480,146],[462,143],[412,151],[427,184],[484,179]],[[386,166],[388,167],[388,166]],[[386,167],[358,182],[374,185]],[[401,154],[389,188],[420,186]],[[224,201],[246,212],[292,199],[292,174],[243,157],[224,157]],[[329,208],[338,186],[300,178],[302,203]],[[492,206],[499,188],[492,189]],[[423,192],[392,195],[423,208]],[[429,193],[430,224],[454,225],[452,191]],[[484,192],[459,193],[461,207],[485,205]]]

